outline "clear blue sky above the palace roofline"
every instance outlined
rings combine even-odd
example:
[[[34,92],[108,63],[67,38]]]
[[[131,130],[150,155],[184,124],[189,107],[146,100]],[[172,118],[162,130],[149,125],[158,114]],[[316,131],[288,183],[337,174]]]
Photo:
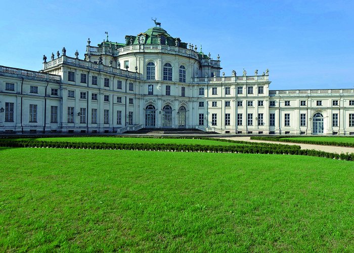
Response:
[[[353,1],[4,1],[0,65],[40,70],[42,56],[83,57],[154,26],[198,46],[226,75],[270,70],[271,89],[354,88]],[[6,11],[4,11],[6,10]]]

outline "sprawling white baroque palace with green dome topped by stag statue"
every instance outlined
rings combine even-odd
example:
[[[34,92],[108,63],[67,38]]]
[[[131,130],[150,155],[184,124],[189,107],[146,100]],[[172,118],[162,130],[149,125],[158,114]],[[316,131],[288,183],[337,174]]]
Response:
[[[84,59],[43,56],[39,72],[0,66],[0,133],[354,135],[354,90],[270,90],[269,71],[226,75],[219,56],[152,27],[87,41]]]

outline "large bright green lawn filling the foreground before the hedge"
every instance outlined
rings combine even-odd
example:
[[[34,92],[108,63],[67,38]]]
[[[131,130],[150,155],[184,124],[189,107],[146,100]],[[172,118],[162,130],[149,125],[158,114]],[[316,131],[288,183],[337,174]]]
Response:
[[[354,251],[350,161],[0,148],[0,251]]]

